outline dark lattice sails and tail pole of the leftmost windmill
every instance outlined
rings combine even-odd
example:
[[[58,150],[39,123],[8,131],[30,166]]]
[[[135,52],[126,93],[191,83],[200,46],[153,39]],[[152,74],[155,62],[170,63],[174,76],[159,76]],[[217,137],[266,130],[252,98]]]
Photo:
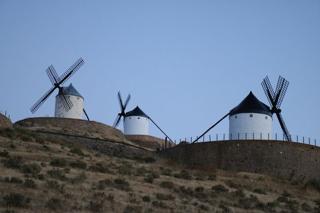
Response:
[[[48,97],[53,93],[53,91],[55,91],[57,88],[59,89],[59,91],[61,91],[62,93],[62,103],[64,105],[64,108],[66,111],[69,111],[72,107],[73,104],[70,100],[70,98],[68,97],[68,95],[66,94],[64,88],[62,87],[62,85],[84,64],[84,61],[82,60],[82,58],[80,58],[78,61],[76,61],[68,70],[66,70],[64,72],[64,74],[59,77],[55,68],[53,67],[53,65],[50,65],[47,69],[47,75],[53,85],[53,87],[47,91],[31,108],[31,112],[32,114],[35,113],[35,111],[37,111],[37,109],[39,109],[39,107],[48,99]],[[88,118],[88,115],[86,113],[86,111],[83,109],[85,115]]]

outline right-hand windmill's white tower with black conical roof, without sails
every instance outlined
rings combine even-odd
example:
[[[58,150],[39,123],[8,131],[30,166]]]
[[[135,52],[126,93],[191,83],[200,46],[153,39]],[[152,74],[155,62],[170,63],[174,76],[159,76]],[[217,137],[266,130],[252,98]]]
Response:
[[[259,101],[250,91],[238,106],[230,110],[230,139],[268,139],[272,133],[270,108]]]

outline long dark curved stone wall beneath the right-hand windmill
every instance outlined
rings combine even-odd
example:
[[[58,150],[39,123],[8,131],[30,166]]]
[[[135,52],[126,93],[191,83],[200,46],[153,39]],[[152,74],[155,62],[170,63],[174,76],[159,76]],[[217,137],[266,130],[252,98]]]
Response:
[[[160,152],[180,163],[310,180],[320,179],[320,147],[287,141],[233,140],[178,145]]]

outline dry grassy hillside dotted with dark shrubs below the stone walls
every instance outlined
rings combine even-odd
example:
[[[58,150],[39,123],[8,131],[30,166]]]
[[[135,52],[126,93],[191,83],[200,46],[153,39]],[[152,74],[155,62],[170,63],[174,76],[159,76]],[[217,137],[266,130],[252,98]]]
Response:
[[[189,168],[154,152],[114,155],[80,144],[1,129],[0,213],[320,213],[317,181]]]

